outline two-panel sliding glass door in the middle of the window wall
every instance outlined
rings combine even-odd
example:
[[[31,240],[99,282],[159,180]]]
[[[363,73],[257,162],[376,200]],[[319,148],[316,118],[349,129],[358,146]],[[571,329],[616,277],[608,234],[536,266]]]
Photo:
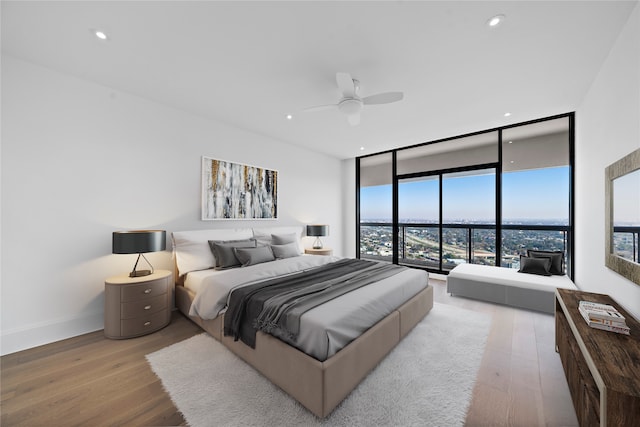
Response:
[[[495,179],[495,168],[399,179],[399,263],[495,265]]]

